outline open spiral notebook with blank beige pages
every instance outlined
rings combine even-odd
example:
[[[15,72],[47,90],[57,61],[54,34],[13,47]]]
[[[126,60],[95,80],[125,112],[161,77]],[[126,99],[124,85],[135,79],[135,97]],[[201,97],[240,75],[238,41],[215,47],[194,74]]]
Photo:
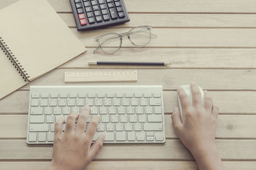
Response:
[[[86,51],[47,0],[0,11],[0,99]]]

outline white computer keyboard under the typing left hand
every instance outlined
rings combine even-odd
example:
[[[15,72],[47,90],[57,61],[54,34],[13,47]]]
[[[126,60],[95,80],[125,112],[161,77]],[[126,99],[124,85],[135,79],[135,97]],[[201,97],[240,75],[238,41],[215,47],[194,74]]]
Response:
[[[54,122],[81,113],[86,105],[90,106],[86,127],[93,116],[100,116],[93,141],[104,133],[104,143],[165,142],[163,87],[131,85],[31,86],[27,143],[53,143]]]

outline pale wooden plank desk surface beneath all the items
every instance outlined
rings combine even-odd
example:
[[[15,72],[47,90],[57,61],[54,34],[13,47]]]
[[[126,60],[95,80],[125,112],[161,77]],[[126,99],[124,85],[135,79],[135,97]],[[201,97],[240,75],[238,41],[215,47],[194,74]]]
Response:
[[[0,8],[15,1],[1,0]],[[51,145],[26,145],[29,86],[65,85],[65,71],[89,69],[137,69],[138,82],[86,84],[163,85],[166,143],[105,145],[88,169],[196,169],[171,120],[175,89],[190,81],[209,90],[220,106],[216,144],[227,169],[256,168],[255,0],[126,0],[131,22],[86,32],[77,32],[68,0],[49,3],[88,52],[0,101],[0,169],[42,169],[51,161]],[[124,41],[116,55],[93,54],[95,36],[138,25],[152,25],[158,38],[146,48]],[[165,61],[172,66],[89,67],[88,60]]]

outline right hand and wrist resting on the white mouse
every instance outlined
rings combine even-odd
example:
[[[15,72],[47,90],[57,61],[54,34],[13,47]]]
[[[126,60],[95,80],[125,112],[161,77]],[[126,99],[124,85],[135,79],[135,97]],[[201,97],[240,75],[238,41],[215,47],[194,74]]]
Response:
[[[182,106],[183,122],[179,108],[175,108],[172,114],[175,132],[194,156],[199,169],[224,169],[215,145],[218,107],[206,91],[202,106],[200,90],[194,83],[191,84],[193,105],[184,89],[179,87],[177,92]]]

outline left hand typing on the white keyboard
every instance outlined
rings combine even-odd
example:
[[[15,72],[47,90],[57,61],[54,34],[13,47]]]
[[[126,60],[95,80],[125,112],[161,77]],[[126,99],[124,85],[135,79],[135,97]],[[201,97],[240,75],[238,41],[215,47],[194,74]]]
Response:
[[[54,145],[51,166],[48,169],[85,169],[95,155],[102,148],[105,135],[102,134],[91,146],[93,136],[97,131],[99,117],[93,117],[84,132],[90,108],[85,106],[81,114],[72,113],[67,117],[65,132],[62,124],[65,118],[61,117],[54,126]],[[77,120],[76,128],[75,122]]]

